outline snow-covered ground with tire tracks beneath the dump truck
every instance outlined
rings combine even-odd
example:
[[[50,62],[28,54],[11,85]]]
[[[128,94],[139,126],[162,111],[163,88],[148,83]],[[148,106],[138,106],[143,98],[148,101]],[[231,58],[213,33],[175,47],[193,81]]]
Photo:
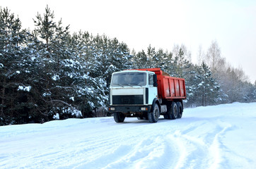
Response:
[[[256,103],[0,127],[0,168],[256,168]]]

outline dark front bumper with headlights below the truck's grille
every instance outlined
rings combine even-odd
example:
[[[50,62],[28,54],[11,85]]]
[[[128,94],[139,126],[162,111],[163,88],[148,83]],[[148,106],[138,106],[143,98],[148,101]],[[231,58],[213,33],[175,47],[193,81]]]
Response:
[[[151,106],[109,106],[108,112],[115,113],[148,113],[151,111]]]

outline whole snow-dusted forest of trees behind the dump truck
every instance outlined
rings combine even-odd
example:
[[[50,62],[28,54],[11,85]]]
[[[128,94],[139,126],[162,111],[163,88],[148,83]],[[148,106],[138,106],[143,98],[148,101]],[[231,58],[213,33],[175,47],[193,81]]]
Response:
[[[1,8],[0,125],[107,116],[112,73],[133,68],[185,78],[186,107],[256,101],[256,82],[227,63],[216,40],[206,51],[200,46],[192,63],[183,44],[131,51],[117,38],[71,33],[48,6],[32,20],[34,30],[21,22]]]

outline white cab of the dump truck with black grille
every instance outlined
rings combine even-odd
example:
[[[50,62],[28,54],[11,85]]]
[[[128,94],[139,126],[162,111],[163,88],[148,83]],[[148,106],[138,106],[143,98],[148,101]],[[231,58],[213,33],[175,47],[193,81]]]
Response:
[[[117,123],[125,117],[146,118],[157,97],[155,73],[141,70],[112,73],[109,111],[114,118],[117,116]]]

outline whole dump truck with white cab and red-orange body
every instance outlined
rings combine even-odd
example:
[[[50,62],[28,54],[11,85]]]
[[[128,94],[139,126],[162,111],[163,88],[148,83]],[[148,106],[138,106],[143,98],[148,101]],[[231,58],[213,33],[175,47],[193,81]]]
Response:
[[[122,70],[112,73],[108,111],[116,123],[126,117],[156,123],[160,115],[182,118],[184,99],[185,80],[170,77],[161,68]]]

